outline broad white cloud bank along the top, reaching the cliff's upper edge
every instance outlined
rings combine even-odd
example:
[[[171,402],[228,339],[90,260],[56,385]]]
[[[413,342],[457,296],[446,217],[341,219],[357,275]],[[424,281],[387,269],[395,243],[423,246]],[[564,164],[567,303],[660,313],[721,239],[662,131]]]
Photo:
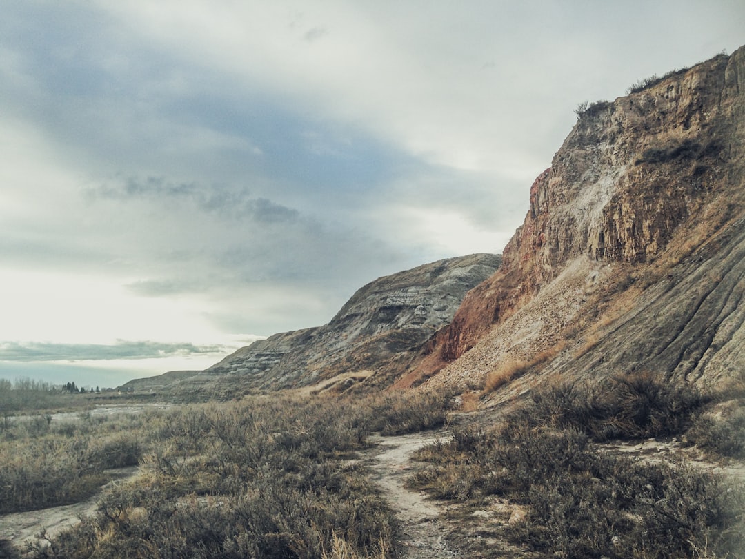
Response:
[[[519,177],[548,165],[577,102],[623,95],[629,72],[647,72],[640,63],[673,58],[676,48],[650,53],[645,42],[656,47],[656,37],[671,35],[669,44],[688,45],[689,31],[704,31],[693,14],[711,26],[728,19],[712,15],[708,2],[100,5],[143,40],[300,112],[354,122],[432,163]],[[659,24],[671,13],[679,28],[663,34]],[[317,35],[310,45],[308,34]]]

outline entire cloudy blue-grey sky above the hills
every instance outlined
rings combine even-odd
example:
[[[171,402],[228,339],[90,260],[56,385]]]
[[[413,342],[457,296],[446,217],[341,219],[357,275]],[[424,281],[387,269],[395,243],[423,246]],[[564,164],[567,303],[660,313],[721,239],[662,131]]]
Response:
[[[741,0],[0,0],[0,378],[115,387],[501,253],[582,101]]]

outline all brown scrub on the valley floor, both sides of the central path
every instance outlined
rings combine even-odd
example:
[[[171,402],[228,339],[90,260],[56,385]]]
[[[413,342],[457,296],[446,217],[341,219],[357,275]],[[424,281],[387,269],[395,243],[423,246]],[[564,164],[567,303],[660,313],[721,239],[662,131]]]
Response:
[[[83,482],[86,495],[98,490],[106,468],[139,461],[136,479],[101,493],[98,513],[32,546],[37,558],[122,549],[133,558],[392,558],[394,511],[350,458],[373,432],[445,426],[457,401],[425,391],[275,395],[67,423],[42,417],[3,432],[1,483],[25,496],[7,510],[46,506],[82,496],[74,490]],[[704,397],[645,373],[557,376],[533,385],[501,423],[456,426],[451,442],[425,446],[418,458],[428,465],[410,484],[470,510],[499,499],[519,511],[479,534],[526,557],[737,557],[742,487],[682,460],[635,461],[597,443],[674,435],[738,456],[741,403],[741,394]],[[64,468],[72,475],[57,473]]]

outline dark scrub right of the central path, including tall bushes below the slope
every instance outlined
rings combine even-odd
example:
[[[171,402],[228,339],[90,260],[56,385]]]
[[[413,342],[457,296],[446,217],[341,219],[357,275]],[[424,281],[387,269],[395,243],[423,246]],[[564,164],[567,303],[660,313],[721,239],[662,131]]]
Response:
[[[416,458],[430,465],[409,483],[445,499],[499,495],[527,506],[527,517],[506,533],[539,557],[738,557],[741,483],[682,461],[633,461],[589,444],[682,432],[704,401],[688,386],[643,373],[594,383],[553,379],[502,423],[460,427],[448,443],[420,450]]]

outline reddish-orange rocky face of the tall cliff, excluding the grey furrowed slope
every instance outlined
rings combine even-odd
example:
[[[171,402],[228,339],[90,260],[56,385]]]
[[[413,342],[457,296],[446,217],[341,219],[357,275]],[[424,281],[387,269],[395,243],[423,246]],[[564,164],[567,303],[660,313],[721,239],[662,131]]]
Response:
[[[541,343],[524,345],[519,353],[537,353],[572,335],[572,320],[576,335],[577,325],[597,318],[609,300],[638,288],[634,278],[676,277],[673,268],[702,243],[728,227],[741,227],[744,107],[745,48],[676,72],[632,95],[591,105],[551,167],[533,183],[530,209],[504,249],[502,267],[466,295],[451,325],[431,341],[427,355],[399,385],[463,360],[486,338],[493,359],[507,355],[505,347],[520,345],[522,338],[494,331],[541,299],[570,265],[576,276],[570,289],[580,292],[574,311],[556,320],[524,312],[520,320],[545,322],[548,330],[539,336]],[[741,293],[738,272],[732,273],[732,289]],[[619,277],[632,279],[619,282]],[[684,300],[667,304],[688,304],[688,294],[679,297]],[[520,331],[516,320],[510,332]],[[645,326],[635,327],[643,331]],[[472,374],[485,373],[489,359],[482,356],[478,361],[479,353],[484,350],[443,373],[458,371],[455,376],[462,378],[468,367]],[[676,368],[672,362],[665,366]]]

